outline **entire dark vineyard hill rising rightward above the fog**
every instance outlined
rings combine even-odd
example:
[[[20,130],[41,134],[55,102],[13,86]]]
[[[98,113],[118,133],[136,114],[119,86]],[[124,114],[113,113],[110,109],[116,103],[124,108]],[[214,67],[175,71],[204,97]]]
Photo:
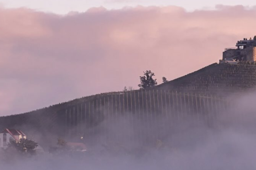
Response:
[[[0,128],[93,138],[95,141],[163,139],[182,122],[214,127],[229,94],[252,90],[256,66],[217,64],[158,86],[75,99],[36,111],[0,117]]]

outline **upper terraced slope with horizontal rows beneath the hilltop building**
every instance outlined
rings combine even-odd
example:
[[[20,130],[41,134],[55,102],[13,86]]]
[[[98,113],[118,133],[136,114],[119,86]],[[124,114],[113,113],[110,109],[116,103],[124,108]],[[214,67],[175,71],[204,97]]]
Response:
[[[228,93],[254,89],[255,86],[256,66],[214,63],[168,83],[160,84],[157,88],[225,96]]]

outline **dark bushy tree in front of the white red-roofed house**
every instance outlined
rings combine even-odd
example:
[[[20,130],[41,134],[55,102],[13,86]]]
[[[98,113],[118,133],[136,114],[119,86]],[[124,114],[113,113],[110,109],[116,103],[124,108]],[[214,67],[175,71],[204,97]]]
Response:
[[[15,140],[12,140],[8,144],[8,147],[10,147],[10,148],[13,147],[18,152],[30,153],[30,154],[34,154],[36,152],[35,149],[37,146],[38,146],[38,144],[35,141],[28,140],[28,139],[20,139],[20,141],[18,141],[18,142]]]

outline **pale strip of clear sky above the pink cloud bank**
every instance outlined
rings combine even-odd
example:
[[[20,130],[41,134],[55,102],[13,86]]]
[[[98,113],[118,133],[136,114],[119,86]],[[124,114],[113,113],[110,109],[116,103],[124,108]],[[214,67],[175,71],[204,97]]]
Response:
[[[125,6],[168,6],[175,5],[185,8],[187,11],[197,9],[214,9],[217,4],[242,5],[251,7],[256,2],[252,0],[0,0],[6,8],[27,7],[37,11],[67,14],[70,11],[85,12],[92,7],[103,6],[106,9],[120,9]]]

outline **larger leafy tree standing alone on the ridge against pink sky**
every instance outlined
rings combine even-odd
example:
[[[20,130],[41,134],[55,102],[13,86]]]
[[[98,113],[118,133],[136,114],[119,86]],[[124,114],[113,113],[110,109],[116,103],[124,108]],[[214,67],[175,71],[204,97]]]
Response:
[[[143,72],[144,76],[140,76],[140,84],[138,85],[140,89],[146,89],[148,87],[156,86],[156,79],[153,79],[155,73],[152,73],[150,70]]]

